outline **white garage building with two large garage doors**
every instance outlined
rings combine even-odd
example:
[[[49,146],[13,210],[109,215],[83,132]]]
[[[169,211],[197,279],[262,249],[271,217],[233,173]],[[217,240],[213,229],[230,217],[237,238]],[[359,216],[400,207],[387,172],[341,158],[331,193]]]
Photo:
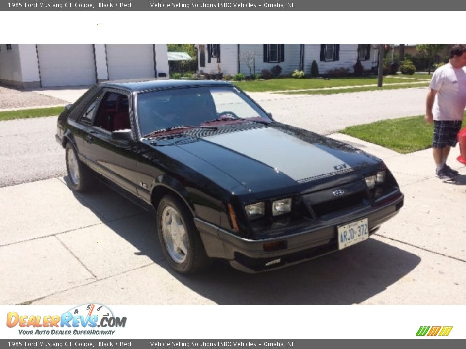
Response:
[[[166,44],[0,44],[0,83],[19,88],[168,78]]]

